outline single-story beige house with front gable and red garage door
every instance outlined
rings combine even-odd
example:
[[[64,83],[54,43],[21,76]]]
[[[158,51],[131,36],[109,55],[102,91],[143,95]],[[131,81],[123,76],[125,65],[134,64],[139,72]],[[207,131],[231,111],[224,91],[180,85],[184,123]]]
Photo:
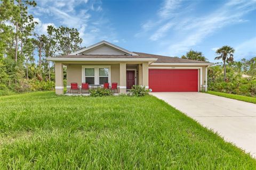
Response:
[[[207,67],[213,63],[130,52],[107,41],[69,55],[49,57],[55,62],[55,91],[63,94],[63,65],[67,66],[67,90],[71,82],[117,82],[126,93],[134,84],[153,92],[207,90]]]

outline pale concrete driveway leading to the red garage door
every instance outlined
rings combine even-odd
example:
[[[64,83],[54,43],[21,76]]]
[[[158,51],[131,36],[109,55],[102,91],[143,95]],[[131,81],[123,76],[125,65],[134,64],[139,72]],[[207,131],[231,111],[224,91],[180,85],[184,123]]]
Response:
[[[256,105],[201,92],[152,92],[256,158]]]

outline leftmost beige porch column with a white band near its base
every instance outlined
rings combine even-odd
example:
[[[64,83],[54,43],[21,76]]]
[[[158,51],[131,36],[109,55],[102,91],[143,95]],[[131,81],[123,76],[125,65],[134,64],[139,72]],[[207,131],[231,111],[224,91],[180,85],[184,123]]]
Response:
[[[63,95],[63,64],[55,62],[55,94]]]

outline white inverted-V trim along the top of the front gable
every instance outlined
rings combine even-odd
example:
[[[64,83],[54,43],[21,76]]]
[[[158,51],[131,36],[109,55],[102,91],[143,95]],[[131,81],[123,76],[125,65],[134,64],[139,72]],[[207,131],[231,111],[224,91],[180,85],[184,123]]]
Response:
[[[89,47],[83,48],[83,49],[81,49],[81,50],[78,50],[77,52],[71,53],[71,54],[69,54],[69,55],[81,55],[81,54],[83,54],[83,53],[86,52],[86,51],[89,51],[89,50],[91,50],[91,49],[100,47],[100,46],[102,46],[102,45],[109,46],[109,47],[111,47],[111,48],[114,48],[114,49],[116,49],[116,50],[119,50],[119,51],[121,51],[121,52],[124,52],[124,53],[127,54],[127,55],[137,55],[137,54],[135,54],[135,53],[130,52],[130,51],[127,50],[127,49],[118,47],[118,46],[116,46],[116,45],[114,45],[114,44],[109,43],[108,41],[105,41],[105,40],[100,41],[99,43],[96,43],[96,44],[91,45],[91,46],[89,46]]]

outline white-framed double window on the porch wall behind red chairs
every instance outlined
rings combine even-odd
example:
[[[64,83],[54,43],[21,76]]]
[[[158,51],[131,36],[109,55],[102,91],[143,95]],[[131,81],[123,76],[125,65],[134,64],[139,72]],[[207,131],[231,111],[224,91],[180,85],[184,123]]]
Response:
[[[110,83],[110,65],[83,65],[82,82],[89,84]]]

